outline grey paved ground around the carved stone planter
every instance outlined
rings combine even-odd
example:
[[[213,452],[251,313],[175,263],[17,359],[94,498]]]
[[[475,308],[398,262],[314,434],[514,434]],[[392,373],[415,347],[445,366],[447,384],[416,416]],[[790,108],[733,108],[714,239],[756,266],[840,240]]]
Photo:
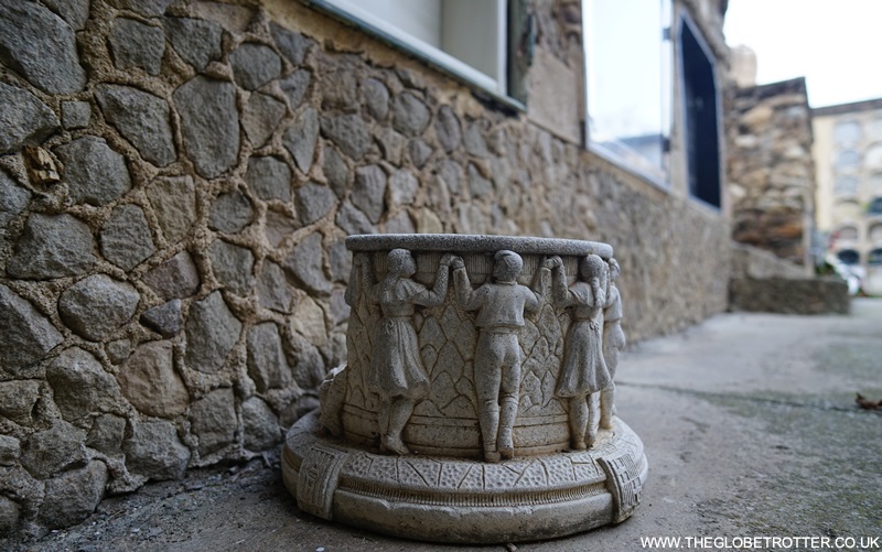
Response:
[[[667,535],[856,538],[858,546],[861,538],[882,538],[882,411],[854,404],[858,391],[882,399],[882,301],[857,300],[850,316],[720,315],[633,347],[619,370],[619,414],[642,436],[649,458],[643,504],[617,527],[509,550],[639,550],[641,538]],[[268,464],[151,485],[106,500],[80,526],[29,545],[8,544],[41,551],[506,548],[400,541],[326,523],[298,511],[278,459]]]

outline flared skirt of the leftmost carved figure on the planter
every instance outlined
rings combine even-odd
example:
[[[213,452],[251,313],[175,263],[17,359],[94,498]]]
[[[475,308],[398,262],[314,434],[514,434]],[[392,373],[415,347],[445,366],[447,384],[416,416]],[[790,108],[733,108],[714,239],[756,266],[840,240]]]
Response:
[[[420,400],[428,394],[429,377],[409,316],[390,316],[380,322],[368,385],[383,397]]]

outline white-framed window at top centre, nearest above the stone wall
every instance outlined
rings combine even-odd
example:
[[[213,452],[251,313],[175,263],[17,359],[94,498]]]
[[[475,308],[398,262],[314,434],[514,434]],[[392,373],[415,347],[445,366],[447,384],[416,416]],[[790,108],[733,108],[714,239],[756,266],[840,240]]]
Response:
[[[506,0],[314,0],[312,3],[355,21],[380,39],[494,96],[508,96],[509,2]]]

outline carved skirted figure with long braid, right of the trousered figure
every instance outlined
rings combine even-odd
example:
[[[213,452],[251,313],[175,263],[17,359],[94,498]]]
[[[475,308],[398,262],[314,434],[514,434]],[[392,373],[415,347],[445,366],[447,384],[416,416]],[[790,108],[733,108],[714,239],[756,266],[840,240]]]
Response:
[[[611,381],[603,359],[602,329],[606,264],[596,255],[579,263],[584,281],[567,285],[560,257],[549,259],[555,305],[570,309],[572,323],[563,343],[563,366],[558,377],[557,396],[570,400],[570,439],[572,448],[584,451],[594,444],[598,416],[596,392]]]

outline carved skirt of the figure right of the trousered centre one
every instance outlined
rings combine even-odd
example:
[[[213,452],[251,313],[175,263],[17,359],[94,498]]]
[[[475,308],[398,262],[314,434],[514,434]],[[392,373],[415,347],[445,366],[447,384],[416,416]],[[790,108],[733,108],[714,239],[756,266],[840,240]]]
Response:
[[[580,397],[606,388],[612,378],[603,360],[601,325],[593,320],[573,320],[563,344],[563,366],[558,377],[558,397]]]

